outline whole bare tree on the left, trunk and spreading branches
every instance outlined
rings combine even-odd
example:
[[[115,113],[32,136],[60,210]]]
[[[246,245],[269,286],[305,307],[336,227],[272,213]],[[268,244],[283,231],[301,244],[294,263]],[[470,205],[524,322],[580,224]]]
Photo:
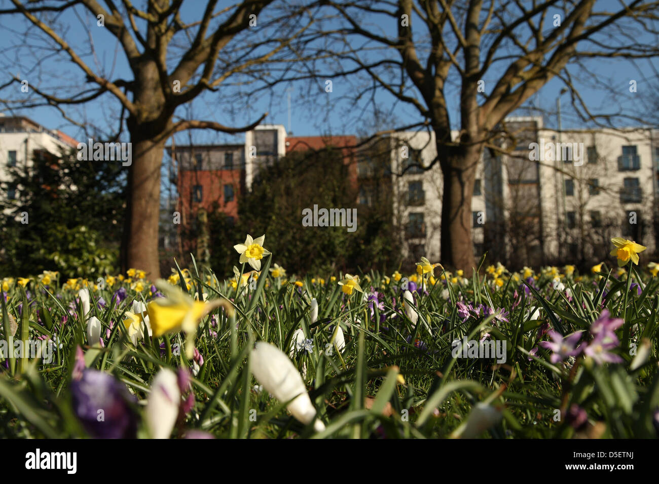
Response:
[[[125,119],[133,153],[123,265],[142,268],[157,277],[160,171],[167,139],[188,129],[243,132],[266,117],[264,114],[247,126],[232,127],[217,121],[177,119],[175,111],[206,92],[256,86],[260,78],[268,76],[269,63],[297,59],[299,53],[293,42],[302,41],[306,27],[313,22],[312,16],[304,14],[304,5],[291,6],[283,0],[243,0],[229,7],[208,0],[200,9],[201,18],[188,22],[183,18],[190,16],[195,5],[184,0],[148,0],[142,3],[144,9],[130,0],[11,3],[13,7],[0,10],[0,14],[7,23],[20,25],[21,18],[27,20],[24,35],[14,47],[17,52],[28,52],[16,55],[14,63],[8,63],[3,70],[16,72],[20,68],[31,73],[31,80],[43,82],[30,82],[31,95],[40,101],[26,101],[21,95],[12,94],[4,100],[5,105],[24,109],[50,105],[72,121],[66,109],[73,105],[96,101],[105,94],[119,101],[120,127],[114,138],[119,139]],[[262,13],[264,9],[269,13]],[[100,61],[90,30],[87,45],[74,47],[67,40],[72,34],[63,19],[77,16],[84,28],[84,18],[89,19],[90,14],[94,24],[98,19],[98,26],[115,39],[129,66],[125,74],[132,79],[111,76],[116,59],[107,64]],[[47,82],[44,71],[51,78],[59,78],[47,62],[51,58],[68,61],[77,70],[71,86]],[[9,90],[20,85],[21,80],[14,75],[2,87]],[[94,87],[80,88],[84,84],[81,80]]]

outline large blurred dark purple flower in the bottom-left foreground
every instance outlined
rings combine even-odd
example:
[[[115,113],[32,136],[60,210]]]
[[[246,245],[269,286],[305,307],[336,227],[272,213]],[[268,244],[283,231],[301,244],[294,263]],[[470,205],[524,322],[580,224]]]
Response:
[[[72,406],[84,429],[97,439],[134,439],[135,398],[126,385],[96,369],[86,368],[76,376],[71,381]]]

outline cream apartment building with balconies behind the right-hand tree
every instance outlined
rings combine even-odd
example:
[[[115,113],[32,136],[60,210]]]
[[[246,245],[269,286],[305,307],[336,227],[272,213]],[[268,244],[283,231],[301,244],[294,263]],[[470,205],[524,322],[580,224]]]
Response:
[[[542,119],[511,117],[501,150],[486,149],[474,183],[476,257],[519,265],[605,260],[610,238],[623,236],[656,251],[658,133],[544,129]],[[453,132],[455,140],[458,132]],[[395,222],[404,255],[440,260],[442,172],[432,132],[390,138]]]

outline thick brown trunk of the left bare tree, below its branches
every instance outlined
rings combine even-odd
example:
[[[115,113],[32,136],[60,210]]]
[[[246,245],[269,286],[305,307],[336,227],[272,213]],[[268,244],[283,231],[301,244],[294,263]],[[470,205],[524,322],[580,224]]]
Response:
[[[165,142],[145,140],[140,132],[130,132],[132,165],[125,254],[127,267],[146,271],[155,281],[160,277],[158,263],[158,221],[160,213],[160,167]]]

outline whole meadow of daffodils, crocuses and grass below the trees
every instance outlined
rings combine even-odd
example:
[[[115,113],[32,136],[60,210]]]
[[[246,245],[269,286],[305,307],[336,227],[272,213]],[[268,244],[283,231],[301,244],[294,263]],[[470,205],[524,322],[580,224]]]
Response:
[[[2,279],[0,432],[20,438],[657,437],[659,265],[298,278]],[[495,350],[500,354],[495,354]]]

